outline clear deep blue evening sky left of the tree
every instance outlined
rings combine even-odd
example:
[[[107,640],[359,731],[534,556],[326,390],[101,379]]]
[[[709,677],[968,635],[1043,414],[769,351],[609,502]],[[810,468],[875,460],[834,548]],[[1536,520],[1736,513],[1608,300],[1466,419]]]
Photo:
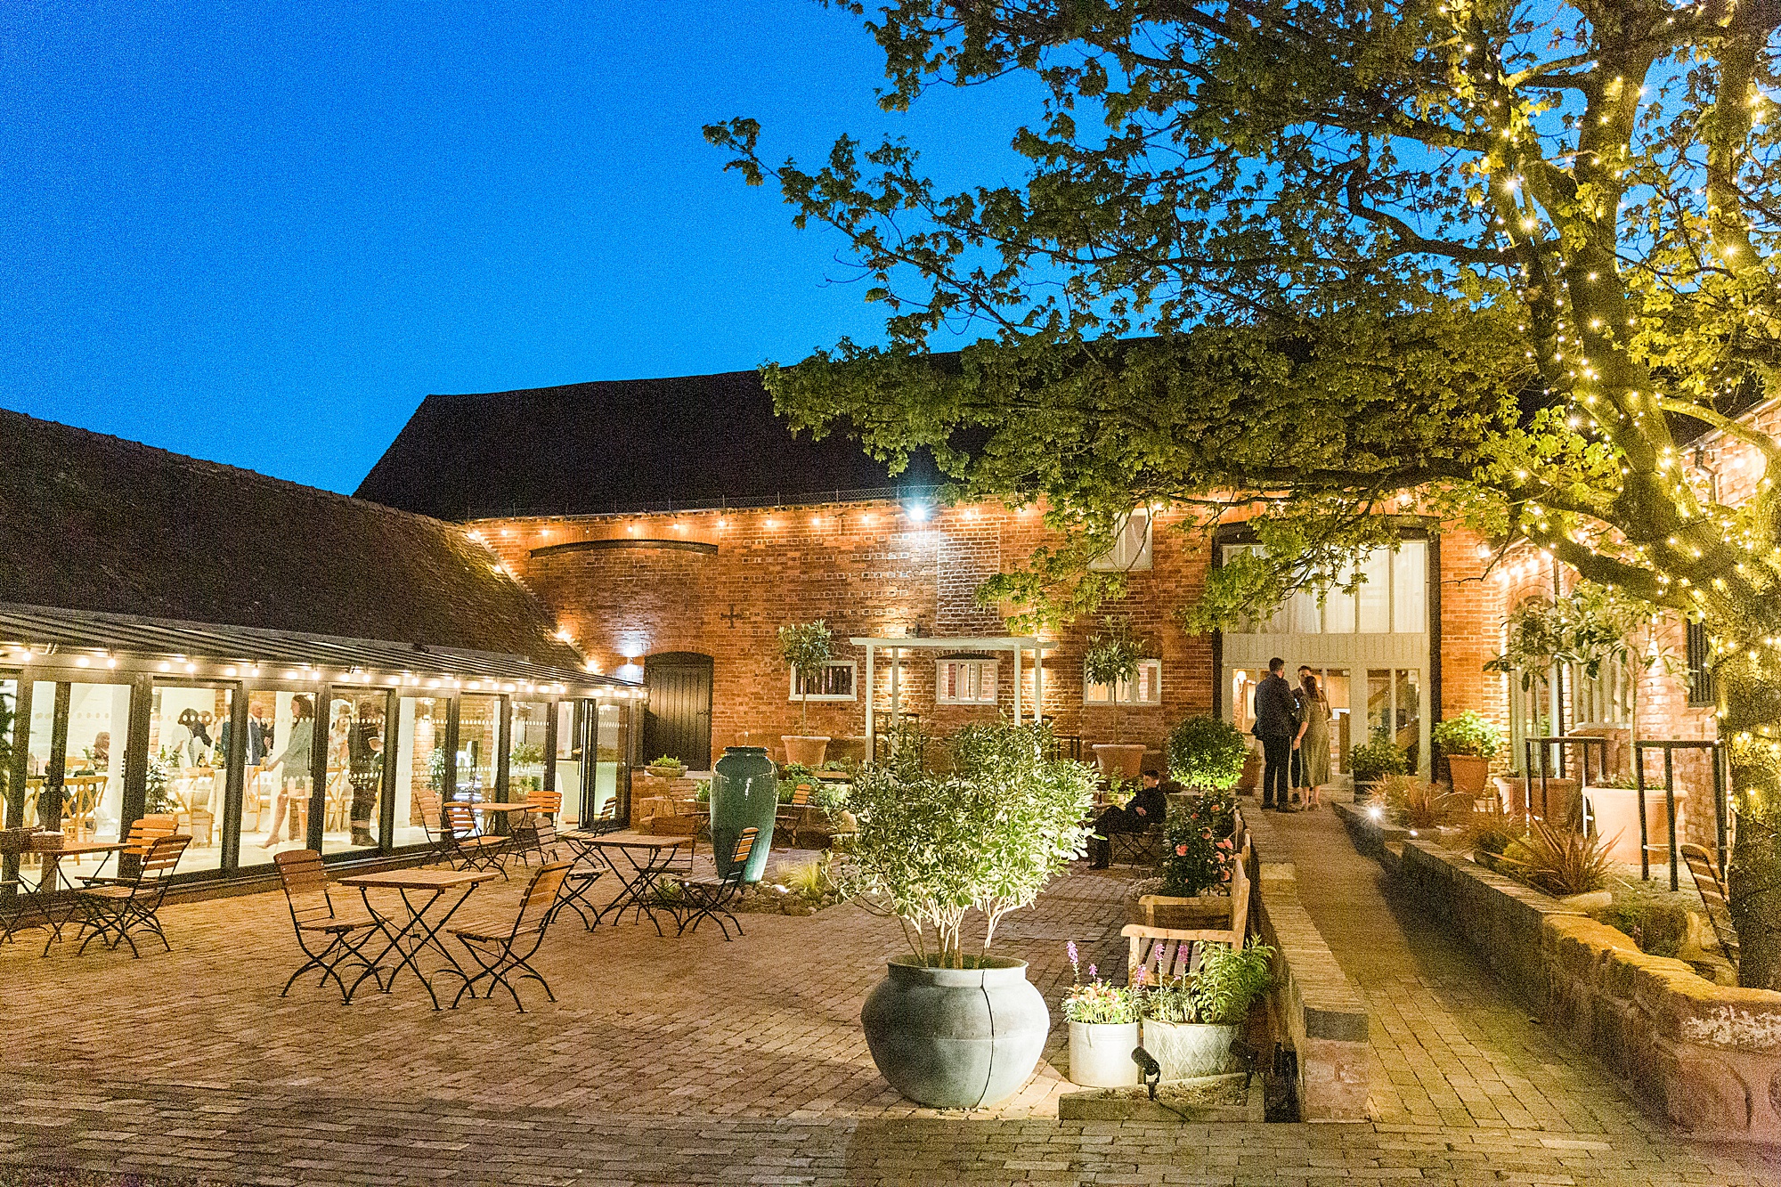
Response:
[[[1031,82],[887,116],[882,61],[809,0],[7,0],[0,406],[353,490],[427,392],[876,342],[700,125],[1013,175]]]

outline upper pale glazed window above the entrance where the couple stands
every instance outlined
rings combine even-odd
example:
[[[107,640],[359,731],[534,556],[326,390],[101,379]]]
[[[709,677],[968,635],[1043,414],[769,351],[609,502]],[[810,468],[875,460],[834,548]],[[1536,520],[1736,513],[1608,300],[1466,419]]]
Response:
[[[1227,544],[1224,560],[1259,551],[1259,544]],[[1427,629],[1428,542],[1400,540],[1396,551],[1370,549],[1345,565],[1327,594],[1298,590],[1272,618],[1248,622],[1240,633],[1421,634]]]

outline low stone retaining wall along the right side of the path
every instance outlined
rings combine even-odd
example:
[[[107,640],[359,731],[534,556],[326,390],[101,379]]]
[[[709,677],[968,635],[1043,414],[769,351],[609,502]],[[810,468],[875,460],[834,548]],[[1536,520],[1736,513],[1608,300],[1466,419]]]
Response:
[[[1653,1112],[1699,1137],[1781,1142],[1781,993],[1715,986],[1428,841],[1405,839],[1396,857],[1395,882],[1421,909]]]

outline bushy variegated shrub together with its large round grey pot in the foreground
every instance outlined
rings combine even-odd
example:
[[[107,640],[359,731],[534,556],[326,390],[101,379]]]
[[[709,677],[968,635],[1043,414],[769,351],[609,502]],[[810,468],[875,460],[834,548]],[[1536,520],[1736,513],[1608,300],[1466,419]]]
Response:
[[[835,879],[896,916],[910,948],[860,1023],[878,1071],[923,1105],[1003,1100],[1045,1046],[1051,1014],[1026,962],[988,950],[1001,920],[1086,847],[1094,772],[1047,759],[1051,745],[1045,725],[969,725],[951,741],[953,774],[871,766],[846,793],[858,832]],[[972,918],[983,939],[967,952]]]

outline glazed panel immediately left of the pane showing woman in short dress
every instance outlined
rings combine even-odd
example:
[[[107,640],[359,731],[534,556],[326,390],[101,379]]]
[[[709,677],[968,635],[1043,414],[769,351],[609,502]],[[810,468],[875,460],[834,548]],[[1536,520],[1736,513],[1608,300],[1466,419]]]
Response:
[[[182,870],[223,864],[223,788],[233,692],[214,684],[155,684],[148,711],[142,811],[169,815],[192,843]]]

